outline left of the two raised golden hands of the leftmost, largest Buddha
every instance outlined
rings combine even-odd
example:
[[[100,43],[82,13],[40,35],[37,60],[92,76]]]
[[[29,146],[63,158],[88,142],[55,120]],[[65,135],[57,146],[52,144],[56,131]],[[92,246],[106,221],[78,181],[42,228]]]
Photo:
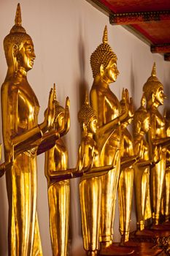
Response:
[[[55,101],[54,101],[54,90],[50,89],[50,95],[48,99],[47,109],[45,110],[45,119],[42,124],[39,125],[42,132],[46,132],[47,129],[53,127],[55,119]]]

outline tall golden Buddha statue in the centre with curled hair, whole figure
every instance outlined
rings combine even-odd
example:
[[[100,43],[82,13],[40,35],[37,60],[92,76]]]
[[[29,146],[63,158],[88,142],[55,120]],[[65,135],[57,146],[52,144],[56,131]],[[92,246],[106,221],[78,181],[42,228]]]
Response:
[[[119,72],[117,70],[117,56],[108,45],[107,26],[104,29],[103,42],[90,56],[93,71],[93,86],[90,90],[90,102],[98,116],[97,144],[101,144],[104,133],[107,140],[103,143],[100,153],[100,164],[111,165],[115,168],[109,170],[106,176],[101,177],[101,249],[112,244],[113,223],[115,217],[115,200],[117,184],[120,176],[120,123],[131,115],[128,110],[128,99],[124,98],[125,112],[120,113],[120,102],[109,89],[109,84],[115,82]]]

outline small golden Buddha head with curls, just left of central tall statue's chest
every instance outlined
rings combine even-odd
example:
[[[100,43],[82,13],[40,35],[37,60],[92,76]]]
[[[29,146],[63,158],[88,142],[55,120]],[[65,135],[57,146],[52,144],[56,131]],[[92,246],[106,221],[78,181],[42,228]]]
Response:
[[[78,113],[78,120],[80,122],[80,127],[82,132],[95,134],[97,131],[97,114],[96,111],[91,108],[88,102],[88,94],[86,93],[85,102],[82,105]]]

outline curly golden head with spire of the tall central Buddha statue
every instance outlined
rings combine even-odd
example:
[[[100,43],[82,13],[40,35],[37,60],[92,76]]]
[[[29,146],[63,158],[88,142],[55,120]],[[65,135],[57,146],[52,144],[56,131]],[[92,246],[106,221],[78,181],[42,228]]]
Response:
[[[93,78],[99,77],[107,83],[112,83],[117,79],[119,71],[117,69],[117,56],[107,42],[107,26],[105,26],[103,42],[91,54],[90,65]]]

